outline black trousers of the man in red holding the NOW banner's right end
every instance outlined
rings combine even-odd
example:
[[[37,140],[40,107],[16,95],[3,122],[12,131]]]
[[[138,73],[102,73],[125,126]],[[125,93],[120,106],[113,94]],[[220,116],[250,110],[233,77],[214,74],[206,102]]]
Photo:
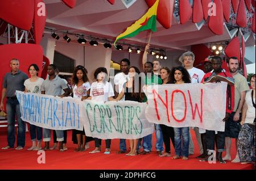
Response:
[[[215,142],[215,131],[206,131],[206,137],[207,137],[207,150],[214,150],[214,142]],[[225,132],[217,132],[217,151],[222,152],[224,151],[225,147]]]

